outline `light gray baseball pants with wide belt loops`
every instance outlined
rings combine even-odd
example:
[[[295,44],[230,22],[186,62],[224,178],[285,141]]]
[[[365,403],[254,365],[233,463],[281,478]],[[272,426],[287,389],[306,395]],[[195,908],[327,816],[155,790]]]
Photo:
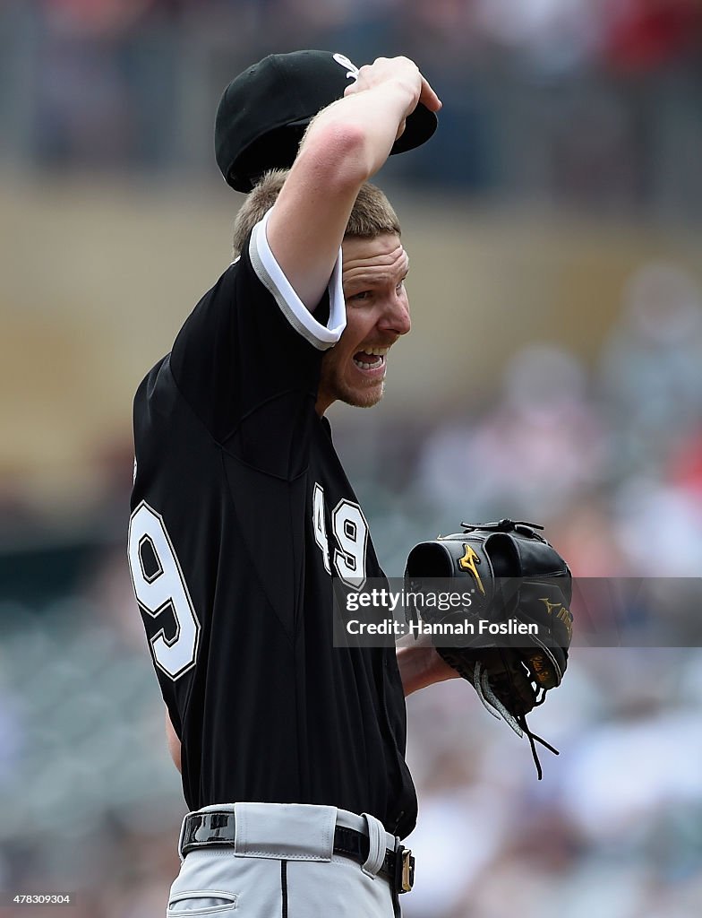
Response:
[[[396,839],[374,816],[329,806],[233,803],[233,846],[181,855],[167,918],[398,918],[397,894],[378,876]],[[364,865],[335,855],[340,825],[370,838]],[[181,832],[182,838],[182,832]]]

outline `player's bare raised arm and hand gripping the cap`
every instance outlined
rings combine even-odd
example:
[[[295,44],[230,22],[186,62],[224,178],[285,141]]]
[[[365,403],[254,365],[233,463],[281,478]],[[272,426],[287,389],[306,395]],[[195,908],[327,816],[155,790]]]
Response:
[[[431,111],[441,107],[416,64],[378,58],[313,118],[267,227],[271,252],[308,309],[329,283],[359,188],[386,161],[420,101]]]

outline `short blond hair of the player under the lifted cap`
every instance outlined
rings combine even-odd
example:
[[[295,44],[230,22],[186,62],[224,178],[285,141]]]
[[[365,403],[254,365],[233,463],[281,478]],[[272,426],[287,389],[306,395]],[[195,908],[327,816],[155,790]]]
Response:
[[[234,221],[234,256],[241,253],[248,234],[276,202],[289,169],[271,169],[247,195]],[[353,210],[346,223],[346,236],[375,239],[384,233],[400,236],[400,221],[388,198],[376,186],[361,185]]]

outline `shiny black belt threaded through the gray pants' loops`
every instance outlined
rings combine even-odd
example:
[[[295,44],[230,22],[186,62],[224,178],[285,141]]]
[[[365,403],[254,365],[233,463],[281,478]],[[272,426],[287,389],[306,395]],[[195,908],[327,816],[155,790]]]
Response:
[[[192,812],[185,817],[181,837],[181,855],[184,857],[198,848],[234,845],[234,813],[229,810]],[[365,864],[370,841],[367,835],[337,825],[334,830],[334,853],[350,857],[357,864]],[[398,845],[396,851],[385,849],[378,876],[387,879],[397,892],[409,892],[414,882],[414,858],[410,848]]]

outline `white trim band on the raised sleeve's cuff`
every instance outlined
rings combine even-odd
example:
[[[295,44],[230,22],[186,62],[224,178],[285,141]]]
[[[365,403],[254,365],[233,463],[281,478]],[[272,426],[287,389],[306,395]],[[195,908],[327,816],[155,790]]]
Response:
[[[251,233],[251,241],[248,245],[251,264],[258,280],[269,290],[278,303],[280,312],[288,319],[292,328],[319,351],[326,351],[334,347],[346,328],[346,302],[341,285],[341,249],[339,249],[334,271],[329,280],[329,320],[326,325],[322,325],[292,289],[290,281],[283,274],[273,252],[270,251],[266,237],[269,216],[270,211],[256,224]]]

